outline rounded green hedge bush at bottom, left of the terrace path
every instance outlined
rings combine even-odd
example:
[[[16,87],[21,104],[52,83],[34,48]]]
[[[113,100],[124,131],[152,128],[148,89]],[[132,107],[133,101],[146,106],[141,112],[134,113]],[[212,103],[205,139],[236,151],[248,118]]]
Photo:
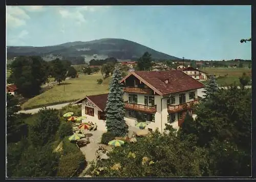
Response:
[[[63,140],[63,151],[57,171],[58,177],[78,176],[84,169],[85,157],[77,146],[71,143],[68,137]]]

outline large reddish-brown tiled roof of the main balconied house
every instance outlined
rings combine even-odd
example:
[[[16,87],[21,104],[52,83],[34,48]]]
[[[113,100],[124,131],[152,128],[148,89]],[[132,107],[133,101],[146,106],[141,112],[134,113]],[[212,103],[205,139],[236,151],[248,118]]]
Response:
[[[159,95],[167,95],[172,93],[184,92],[186,90],[197,89],[205,87],[204,84],[183,73],[180,70],[170,71],[137,71],[132,72],[124,77],[120,82],[133,74],[135,77],[151,87]],[[168,79],[168,83],[164,80]]]

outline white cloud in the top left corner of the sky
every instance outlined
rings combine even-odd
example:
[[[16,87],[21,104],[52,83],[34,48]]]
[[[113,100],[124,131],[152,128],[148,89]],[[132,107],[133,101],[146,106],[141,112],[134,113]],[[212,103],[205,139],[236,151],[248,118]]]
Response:
[[[26,20],[30,19],[29,15],[17,6],[7,6],[6,22],[7,27],[15,28],[26,25]]]

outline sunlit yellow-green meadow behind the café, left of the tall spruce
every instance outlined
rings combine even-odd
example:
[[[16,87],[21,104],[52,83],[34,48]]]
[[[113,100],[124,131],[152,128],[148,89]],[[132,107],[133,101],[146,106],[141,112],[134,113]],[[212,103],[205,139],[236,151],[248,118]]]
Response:
[[[97,84],[96,80],[101,78],[100,73],[92,75],[80,74],[78,78],[66,80],[66,84],[55,85],[46,92],[29,99],[22,105],[23,109],[41,107],[42,105],[54,105],[75,101],[85,96],[108,93],[110,77]],[[65,90],[64,90],[65,88]]]

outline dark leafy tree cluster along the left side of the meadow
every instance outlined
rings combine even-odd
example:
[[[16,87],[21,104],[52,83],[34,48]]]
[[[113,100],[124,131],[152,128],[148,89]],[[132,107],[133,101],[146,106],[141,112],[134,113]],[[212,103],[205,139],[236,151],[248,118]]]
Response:
[[[41,85],[49,82],[49,77],[59,84],[67,77],[75,78],[76,70],[71,61],[54,59],[44,61],[39,56],[19,56],[9,65],[11,75],[8,83],[14,83],[17,93],[25,98],[40,94]]]

